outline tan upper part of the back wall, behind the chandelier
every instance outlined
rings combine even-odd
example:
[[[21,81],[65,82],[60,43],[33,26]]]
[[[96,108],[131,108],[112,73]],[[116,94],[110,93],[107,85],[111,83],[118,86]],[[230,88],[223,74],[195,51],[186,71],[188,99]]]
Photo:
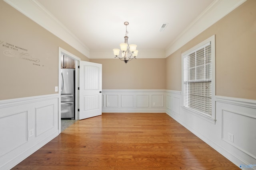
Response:
[[[114,57],[113,57],[114,58]],[[165,59],[90,59],[102,64],[102,89],[166,89]]]

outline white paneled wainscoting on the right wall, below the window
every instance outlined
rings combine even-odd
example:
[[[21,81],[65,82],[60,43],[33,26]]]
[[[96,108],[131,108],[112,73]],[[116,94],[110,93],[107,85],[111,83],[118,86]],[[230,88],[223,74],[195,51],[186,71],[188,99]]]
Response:
[[[216,122],[182,107],[181,92],[166,90],[166,113],[238,167],[256,169],[256,101],[216,96]]]

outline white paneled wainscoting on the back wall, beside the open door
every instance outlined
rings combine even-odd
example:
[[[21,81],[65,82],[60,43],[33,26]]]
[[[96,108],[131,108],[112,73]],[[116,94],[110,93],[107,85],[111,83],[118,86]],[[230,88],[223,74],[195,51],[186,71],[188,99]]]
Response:
[[[166,90],[102,90],[102,112],[166,112]]]

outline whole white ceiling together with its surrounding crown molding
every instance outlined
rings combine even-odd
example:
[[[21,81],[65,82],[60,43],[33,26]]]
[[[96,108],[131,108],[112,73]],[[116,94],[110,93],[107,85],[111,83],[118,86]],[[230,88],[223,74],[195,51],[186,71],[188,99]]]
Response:
[[[166,58],[246,0],[4,1],[86,57],[104,59],[124,42],[125,21],[137,58]]]

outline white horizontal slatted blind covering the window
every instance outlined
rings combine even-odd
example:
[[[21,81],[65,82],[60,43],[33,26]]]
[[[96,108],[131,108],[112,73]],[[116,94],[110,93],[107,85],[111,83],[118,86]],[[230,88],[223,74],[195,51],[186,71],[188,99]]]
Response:
[[[212,115],[211,42],[183,56],[184,107]]]

